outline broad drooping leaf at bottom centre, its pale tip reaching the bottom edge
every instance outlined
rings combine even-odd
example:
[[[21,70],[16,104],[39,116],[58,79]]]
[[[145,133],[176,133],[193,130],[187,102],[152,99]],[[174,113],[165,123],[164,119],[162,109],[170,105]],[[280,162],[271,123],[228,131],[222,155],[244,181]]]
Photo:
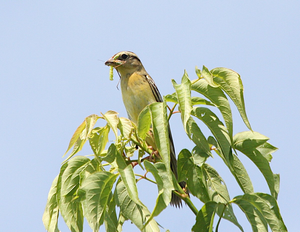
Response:
[[[116,204],[120,207],[122,215],[131,220],[141,231],[160,231],[154,219],[151,219],[145,228],[143,228],[145,223],[149,220],[151,213],[146,206],[135,203],[131,197],[129,197],[123,181],[119,181],[117,183],[114,196]]]

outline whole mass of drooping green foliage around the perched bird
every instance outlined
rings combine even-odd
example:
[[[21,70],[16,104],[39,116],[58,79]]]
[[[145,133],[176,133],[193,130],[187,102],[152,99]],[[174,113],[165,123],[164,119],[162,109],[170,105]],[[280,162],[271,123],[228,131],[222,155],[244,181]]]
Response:
[[[129,119],[118,117],[115,111],[85,118],[73,134],[67,148],[67,152],[71,150],[70,155],[63,162],[50,188],[43,215],[46,230],[59,231],[57,218],[60,212],[72,232],[82,231],[84,217],[95,232],[99,231],[102,224],[107,232],[121,232],[126,220],[130,220],[141,231],[160,231],[154,218],[169,205],[173,191],[195,213],[196,223],[192,231],[213,231],[216,215],[218,223],[215,231],[221,218],[231,221],[243,231],[232,204],[239,206],[255,232],[268,231],[268,226],[273,232],[287,231],[276,200],[279,175],[274,174],[269,165],[271,153],[277,148],[267,142],[268,137],[252,131],[245,111],[243,84],[239,74],[226,68],[209,71],[205,66],[202,71],[196,67],[196,74],[196,80],[190,81],[186,72],[180,84],[172,80],[175,93],[165,96],[164,102],[147,106],[141,112],[137,125]],[[191,96],[191,93],[195,96]],[[226,96],[231,98],[250,131],[233,136],[232,113]],[[167,102],[173,107],[169,108]],[[174,111],[176,106],[177,112]],[[219,110],[223,119],[220,120],[207,106]],[[168,120],[174,113],[180,113],[187,137],[196,145],[191,151],[183,149],[179,152],[178,181],[170,170],[167,130]],[[99,119],[104,120],[103,127],[95,127]],[[198,120],[209,128],[212,136],[205,137]],[[108,144],[110,131],[115,135],[115,141]],[[161,159],[147,145],[145,140],[148,137],[154,137]],[[93,159],[74,156],[86,141],[94,153]],[[229,168],[244,195],[230,198],[222,177],[206,163],[212,157],[212,151]],[[237,151],[258,167],[270,194],[254,192]],[[131,157],[135,152],[138,157],[133,160]],[[143,158],[146,153],[149,157]],[[134,173],[135,165],[152,173],[155,180]],[[137,179],[137,176],[140,178]],[[153,212],[139,199],[136,183],[141,179],[157,184],[158,197]],[[204,203],[201,209],[196,209],[187,193],[180,188],[178,182],[181,181],[186,181],[190,194]],[[119,215],[116,207],[120,209]]]

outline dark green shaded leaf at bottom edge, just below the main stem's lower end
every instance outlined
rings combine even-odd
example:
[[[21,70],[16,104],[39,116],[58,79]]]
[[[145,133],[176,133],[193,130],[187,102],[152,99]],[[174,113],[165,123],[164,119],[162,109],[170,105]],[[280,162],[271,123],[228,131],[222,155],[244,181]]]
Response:
[[[196,223],[192,227],[194,232],[212,232],[214,215],[220,203],[208,201],[202,206],[196,216]]]

